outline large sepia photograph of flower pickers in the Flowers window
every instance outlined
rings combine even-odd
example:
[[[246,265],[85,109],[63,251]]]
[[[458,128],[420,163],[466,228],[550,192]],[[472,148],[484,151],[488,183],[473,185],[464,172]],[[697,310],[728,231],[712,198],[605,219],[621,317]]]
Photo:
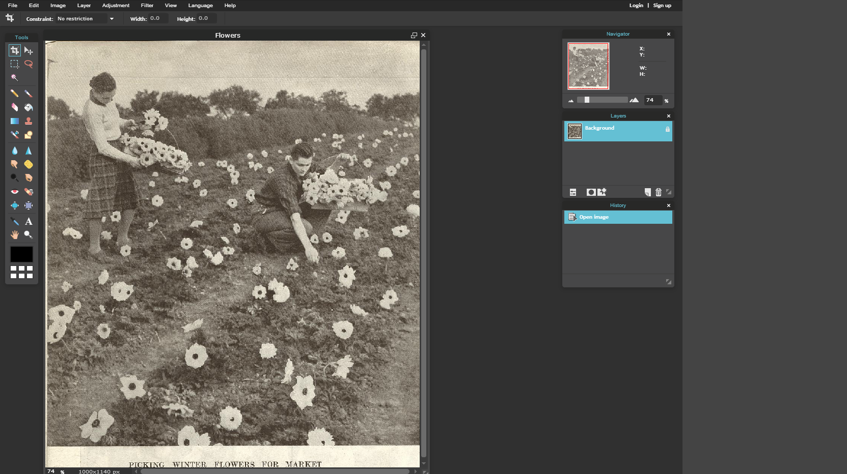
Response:
[[[417,465],[418,42],[45,52],[47,466]]]

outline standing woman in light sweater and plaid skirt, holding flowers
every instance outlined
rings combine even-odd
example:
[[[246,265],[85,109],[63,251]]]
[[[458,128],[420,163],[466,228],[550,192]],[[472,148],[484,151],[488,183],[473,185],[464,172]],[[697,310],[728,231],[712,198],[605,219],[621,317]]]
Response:
[[[88,161],[91,187],[83,217],[88,221],[88,253],[103,262],[105,257],[100,249],[103,216],[120,211],[117,243],[119,247],[130,243],[130,223],[140,201],[132,168],[141,168],[141,163],[137,157],[119,149],[120,127],[136,122],[120,118],[118,107],[112,101],[118,89],[112,74],[97,74],[88,85],[91,91],[82,109],[82,120],[97,152],[92,153]]]

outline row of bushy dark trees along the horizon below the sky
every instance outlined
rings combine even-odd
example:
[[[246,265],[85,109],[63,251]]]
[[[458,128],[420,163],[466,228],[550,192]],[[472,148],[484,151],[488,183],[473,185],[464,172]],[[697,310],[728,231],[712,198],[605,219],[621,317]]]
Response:
[[[315,112],[354,112],[368,117],[386,120],[413,120],[420,115],[420,93],[396,94],[385,96],[374,94],[365,103],[365,109],[347,102],[345,91],[326,91],[319,97],[304,96],[293,92],[279,91],[268,98],[264,106],[259,106],[262,97],[257,91],[244,89],[241,85],[230,85],[226,89],[217,89],[208,96],[192,96],[180,92],[138,91],[130,100],[130,107],[117,104],[123,116],[140,116],[150,108],[157,109],[164,117],[190,117],[214,115],[219,118],[252,115],[260,110],[277,108],[297,108]],[[47,114],[50,118],[70,118],[78,116],[62,99],[47,97]]]

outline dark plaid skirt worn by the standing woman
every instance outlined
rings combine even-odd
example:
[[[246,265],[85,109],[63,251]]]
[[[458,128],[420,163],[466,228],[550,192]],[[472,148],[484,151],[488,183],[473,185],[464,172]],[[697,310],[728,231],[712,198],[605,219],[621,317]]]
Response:
[[[119,141],[110,141],[109,144],[120,149]],[[91,187],[88,189],[84,218],[98,219],[113,211],[135,209],[141,204],[129,164],[94,152],[88,160],[88,173]]]

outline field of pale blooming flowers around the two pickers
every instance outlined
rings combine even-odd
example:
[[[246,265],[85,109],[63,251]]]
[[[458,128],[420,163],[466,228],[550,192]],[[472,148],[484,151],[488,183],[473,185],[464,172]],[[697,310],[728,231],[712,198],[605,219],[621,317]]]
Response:
[[[189,155],[183,176],[137,171],[145,205],[122,248],[120,213],[104,216],[107,263],[87,258],[89,184],[51,187],[47,444],[373,444],[368,399],[418,323],[420,163],[416,127],[361,132],[298,139],[319,164],[343,153],[336,178],[370,177],[385,196],[332,212],[311,236],[316,264],[250,225],[254,193],[294,143]],[[417,428],[402,416],[390,423]]]

